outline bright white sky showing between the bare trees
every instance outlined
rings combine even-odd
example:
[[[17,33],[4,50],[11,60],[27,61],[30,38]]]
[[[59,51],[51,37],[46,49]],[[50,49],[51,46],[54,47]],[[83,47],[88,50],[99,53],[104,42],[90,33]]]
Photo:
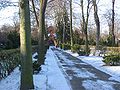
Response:
[[[18,2],[18,0],[11,0],[12,2]],[[80,3],[80,0],[73,0],[73,11],[75,13],[76,18],[73,20],[73,25],[78,26],[80,24],[80,6],[77,3]],[[100,17],[100,22],[101,22],[101,28],[106,29],[107,27],[107,22],[105,18],[103,17],[103,14],[106,12],[107,9],[110,9],[112,7],[111,5],[112,0],[100,0],[98,3],[98,12],[99,12],[99,17]],[[115,12],[119,13],[120,9],[120,0],[116,0],[115,2]],[[0,11],[0,27],[4,24],[13,24],[13,15],[15,12],[18,12],[19,8],[18,7],[7,7],[5,9],[2,9]],[[119,13],[120,15],[120,13]],[[91,14],[90,19],[93,22],[93,14]]]

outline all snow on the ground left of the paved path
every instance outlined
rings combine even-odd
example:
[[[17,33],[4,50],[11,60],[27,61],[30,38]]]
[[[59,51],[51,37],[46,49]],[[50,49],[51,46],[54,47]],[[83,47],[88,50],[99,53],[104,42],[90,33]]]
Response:
[[[37,53],[32,58],[36,55]],[[38,74],[33,75],[34,90],[70,90],[51,49],[47,51],[45,65],[42,65],[41,68],[42,70]],[[7,78],[0,81],[0,90],[19,90],[19,87],[20,71],[17,67]]]

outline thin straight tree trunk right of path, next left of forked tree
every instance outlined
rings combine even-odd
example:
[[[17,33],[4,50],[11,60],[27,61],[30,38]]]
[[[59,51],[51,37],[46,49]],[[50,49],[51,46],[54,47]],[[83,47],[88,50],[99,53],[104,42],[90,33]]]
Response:
[[[70,38],[71,38],[71,51],[73,50],[73,30],[72,30],[72,0],[70,0]]]

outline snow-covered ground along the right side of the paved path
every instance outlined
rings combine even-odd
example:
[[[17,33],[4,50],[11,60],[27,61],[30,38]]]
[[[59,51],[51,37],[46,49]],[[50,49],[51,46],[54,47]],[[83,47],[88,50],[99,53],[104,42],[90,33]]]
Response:
[[[110,80],[120,82],[120,66],[105,66],[105,63],[102,61],[103,58],[100,56],[79,56],[77,53],[72,53],[70,51],[66,52],[92,65],[96,69],[111,75],[112,77],[109,78]]]

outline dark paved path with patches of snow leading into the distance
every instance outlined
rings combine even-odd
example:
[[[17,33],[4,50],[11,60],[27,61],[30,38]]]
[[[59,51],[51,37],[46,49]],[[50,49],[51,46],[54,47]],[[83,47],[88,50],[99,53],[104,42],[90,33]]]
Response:
[[[52,49],[72,90],[120,90],[120,83],[110,75],[58,49]]]

